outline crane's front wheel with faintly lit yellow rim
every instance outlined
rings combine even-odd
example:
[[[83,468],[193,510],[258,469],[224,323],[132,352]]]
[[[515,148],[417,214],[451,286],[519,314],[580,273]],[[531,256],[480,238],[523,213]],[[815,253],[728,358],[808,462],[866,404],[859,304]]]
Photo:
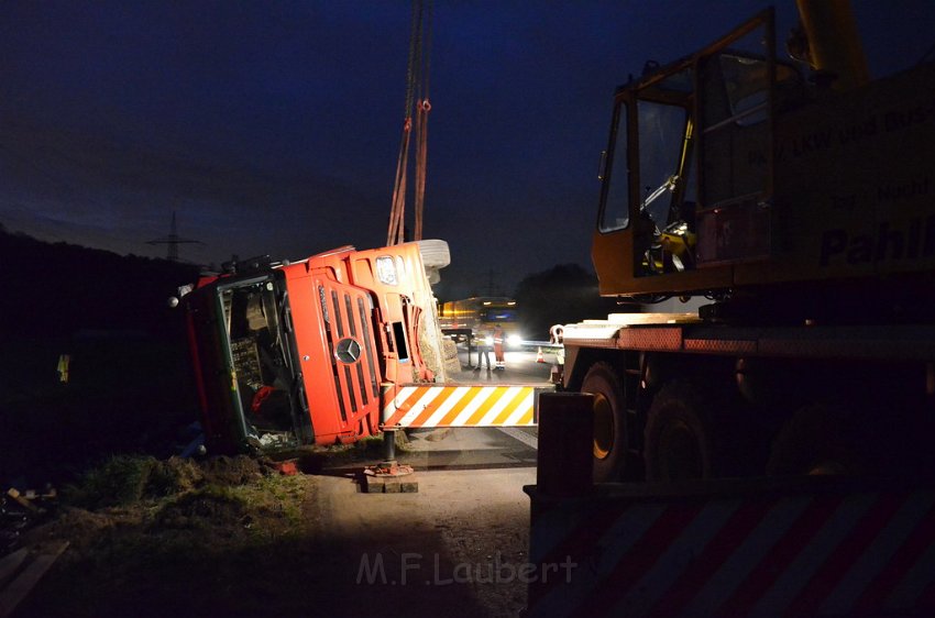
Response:
[[[594,482],[617,481],[627,456],[624,389],[614,368],[595,363],[587,369],[582,393],[594,396]]]

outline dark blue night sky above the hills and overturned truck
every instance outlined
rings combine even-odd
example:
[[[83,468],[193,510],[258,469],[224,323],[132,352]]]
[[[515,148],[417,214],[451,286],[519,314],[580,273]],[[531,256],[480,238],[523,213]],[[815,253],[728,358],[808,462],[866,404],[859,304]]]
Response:
[[[425,235],[451,246],[440,296],[590,268],[614,88],[766,5],[436,0]],[[854,5],[873,76],[935,44],[931,0]],[[777,9],[784,41],[794,3]],[[0,223],[164,256],[145,241],[176,211],[200,264],[380,246],[409,21],[391,0],[3,2]]]

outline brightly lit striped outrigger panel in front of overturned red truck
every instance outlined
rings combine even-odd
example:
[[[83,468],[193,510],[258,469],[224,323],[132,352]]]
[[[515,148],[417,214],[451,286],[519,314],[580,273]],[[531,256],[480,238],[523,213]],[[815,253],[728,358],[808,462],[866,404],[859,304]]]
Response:
[[[403,386],[384,395],[384,427],[529,427],[534,386]],[[392,398],[391,398],[392,397]]]

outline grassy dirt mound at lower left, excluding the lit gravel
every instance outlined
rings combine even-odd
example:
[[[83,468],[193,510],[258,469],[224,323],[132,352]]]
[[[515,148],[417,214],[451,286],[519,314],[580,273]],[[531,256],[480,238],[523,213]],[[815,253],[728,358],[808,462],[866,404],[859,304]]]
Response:
[[[31,532],[69,548],[14,616],[265,615],[264,574],[302,534],[307,481],[249,457],[111,460]]]

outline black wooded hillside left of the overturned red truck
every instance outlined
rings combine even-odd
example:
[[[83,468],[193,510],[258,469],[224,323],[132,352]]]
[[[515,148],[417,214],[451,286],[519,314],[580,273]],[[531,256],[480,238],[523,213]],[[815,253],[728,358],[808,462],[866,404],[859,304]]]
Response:
[[[0,486],[175,452],[197,397],[185,312],[166,301],[198,267],[4,230],[0,264]]]

